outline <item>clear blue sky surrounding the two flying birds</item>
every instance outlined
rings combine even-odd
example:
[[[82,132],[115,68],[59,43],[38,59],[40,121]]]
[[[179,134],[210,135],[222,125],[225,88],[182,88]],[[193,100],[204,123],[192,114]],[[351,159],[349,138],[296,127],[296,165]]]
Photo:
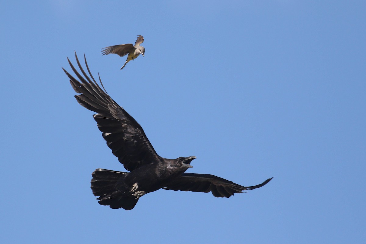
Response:
[[[365,1],[2,1],[1,243],[365,243]],[[101,48],[143,35],[145,57]],[[100,206],[86,54],[162,157],[260,189]]]

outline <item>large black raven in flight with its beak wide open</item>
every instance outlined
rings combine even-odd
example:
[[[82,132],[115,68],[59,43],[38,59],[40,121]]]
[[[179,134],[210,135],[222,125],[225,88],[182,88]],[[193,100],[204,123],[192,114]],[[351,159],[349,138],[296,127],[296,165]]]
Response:
[[[118,158],[128,171],[119,172],[108,169],[96,169],[91,175],[91,189],[98,196],[101,205],[109,205],[112,209],[123,208],[131,210],[138,199],[146,193],[160,188],[174,191],[211,192],[216,197],[230,197],[234,193],[259,188],[267,184],[272,178],[262,184],[244,187],[232,181],[211,175],[184,173],[192,168],[191,161],[196,157],[179,157],[167,159],[160,157],[147,139],[141,125],[119,106],[111,97],[99,77],[103,89],[94,80],[89,67],[86,64],[86,74],[78,57],[76,62],[83,74],[71,64],[72,71],[77,76],[71,76],[64,68],[64,72],[70,78],[72,88],[79,93],[76,100],[83,107],[96,112],[93,115],[98,128],[112,153]]]

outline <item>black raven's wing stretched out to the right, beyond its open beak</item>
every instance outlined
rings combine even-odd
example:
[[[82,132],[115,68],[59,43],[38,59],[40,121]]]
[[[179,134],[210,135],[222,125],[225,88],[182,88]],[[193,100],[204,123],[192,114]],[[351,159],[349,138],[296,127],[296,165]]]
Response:
[[[262,187],[270,180],[272,180],[272,178],[259,185],[244,187],[212,174],[183,173],[166,187],[163,187],[163,189],[173,191],[211,192],[212,195],[217,198],[229,198],[234,195],[234,193],[242,193],[243,191]]]

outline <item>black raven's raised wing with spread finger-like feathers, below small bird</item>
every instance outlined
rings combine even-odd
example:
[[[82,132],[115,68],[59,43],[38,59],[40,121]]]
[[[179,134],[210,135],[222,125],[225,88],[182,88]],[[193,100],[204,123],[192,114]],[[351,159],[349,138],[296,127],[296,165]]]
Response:
[[[76,93],[80,93],[80,95],[75,95],[75,98],[83,107],[97,113],[93,117],[98,123],[98,128],[103,132],[102,136],[107,141],[108,147],[112,149],[112,153],[123,164],[124,168],[132,171],[141,165],[159,161],[160,157],[147,139],[141,125],[109,97],[100,78],[103,90],[94,80],[86,63],[85,55],[86,68],[92,80],[83,70],[76,52],[75,58],[83,76],[76,71],[70,60],[67,60],[79,80],[63,68],[70,78],[72,88]]]

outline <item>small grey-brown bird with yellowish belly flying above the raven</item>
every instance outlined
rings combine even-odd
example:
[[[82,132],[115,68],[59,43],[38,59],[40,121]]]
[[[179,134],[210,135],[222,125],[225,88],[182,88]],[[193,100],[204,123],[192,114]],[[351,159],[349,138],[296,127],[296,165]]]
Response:
[[[140,46],[142,42],[143,42],[143,36],[138,35],[135,45],[129,43],[115,46],[107,46],[106,48],[102,48],[103,49],[102,54],[107,55],[109,53],[115,53],[121,57],[128,54],[126,63],[124,63],[124,65],[121,68],[122,70],[129,61],[136,59],[140,55],[140,53],[142,54],[142,56],[145,57],[145,48],[143,46]]]

